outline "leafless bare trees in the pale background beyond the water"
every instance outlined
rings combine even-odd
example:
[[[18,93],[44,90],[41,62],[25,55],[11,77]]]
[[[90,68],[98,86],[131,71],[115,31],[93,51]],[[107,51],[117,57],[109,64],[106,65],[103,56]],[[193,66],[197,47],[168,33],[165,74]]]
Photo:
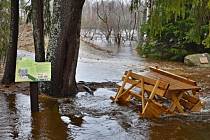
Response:
[[[84,37],[92,39],[95,34],[101,33],[108,42],[114,39],[118,45],[122,41],[137,39],[137,23],[140,17],[137,10],[130,11],[129,3],[124,0],[100,0],[92,3],[88,1],[83,13]],[[97,18],[92,20],[91,17],[95,16]]]

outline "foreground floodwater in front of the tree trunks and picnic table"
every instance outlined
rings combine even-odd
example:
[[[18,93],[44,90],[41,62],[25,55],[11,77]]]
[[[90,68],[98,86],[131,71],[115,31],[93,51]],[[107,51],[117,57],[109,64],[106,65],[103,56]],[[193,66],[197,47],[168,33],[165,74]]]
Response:
[[[0,94],[0,139],[189,139],[210,137],[210,113],[139,118],[136,111],[112,103],[114,89],[97,89],[94,96],[79,93],[75,98],[40,98],[40,112],[30,112],[23,94]]]

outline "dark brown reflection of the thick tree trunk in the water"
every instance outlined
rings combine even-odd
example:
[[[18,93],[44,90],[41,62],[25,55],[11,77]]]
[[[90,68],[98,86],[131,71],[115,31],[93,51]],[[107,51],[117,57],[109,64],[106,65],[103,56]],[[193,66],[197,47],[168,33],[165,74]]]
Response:
[[[40,102],[41,111],[32,114],[32,138],[66,139],[67,127],[61,120],[57,101],[41,98]]]

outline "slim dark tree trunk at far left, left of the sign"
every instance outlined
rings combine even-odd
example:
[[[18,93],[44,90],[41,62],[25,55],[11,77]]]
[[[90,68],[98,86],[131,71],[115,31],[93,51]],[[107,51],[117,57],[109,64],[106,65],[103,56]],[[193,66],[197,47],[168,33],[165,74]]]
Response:
[[[10,23],[10,41],[7,49],[6,66],[3,84],[15,82],[15,67],[17,57],[18,43],[18,25],[19,25],[19,0],[11,0],[11,23]]]

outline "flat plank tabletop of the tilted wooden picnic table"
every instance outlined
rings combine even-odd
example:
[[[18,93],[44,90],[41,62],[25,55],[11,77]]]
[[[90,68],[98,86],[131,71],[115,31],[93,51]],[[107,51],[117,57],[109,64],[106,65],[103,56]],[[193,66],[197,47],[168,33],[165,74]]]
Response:
[[[160,79],[161,81],[167,82],[170,84],[169,91],[186,91],[186,90],[200,90],[198,86],[194,86],[188,83],[185,83],[181,80],[163,75],[161,73],[148,71],[148,72],[142,72],[141,75],[147,76],[152,79]]]

